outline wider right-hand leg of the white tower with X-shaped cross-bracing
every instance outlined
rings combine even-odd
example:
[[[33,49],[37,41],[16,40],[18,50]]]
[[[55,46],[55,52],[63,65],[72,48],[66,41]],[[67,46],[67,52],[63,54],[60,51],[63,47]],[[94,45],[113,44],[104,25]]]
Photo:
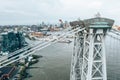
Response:
[[[107,80],[104,38],[102,29],[85,34],[81,80]]]

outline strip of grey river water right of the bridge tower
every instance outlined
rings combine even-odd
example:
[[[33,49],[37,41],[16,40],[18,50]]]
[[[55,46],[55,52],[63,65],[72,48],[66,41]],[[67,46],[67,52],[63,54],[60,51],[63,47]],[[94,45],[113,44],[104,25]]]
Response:
[[[120,40],[116,38],[106,37],[107,80],[120,80]]]

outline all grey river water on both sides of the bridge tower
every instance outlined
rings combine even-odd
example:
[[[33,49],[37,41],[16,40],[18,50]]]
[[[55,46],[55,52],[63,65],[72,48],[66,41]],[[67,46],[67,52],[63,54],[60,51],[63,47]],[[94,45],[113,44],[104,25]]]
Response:
[[[120,80],[120,41],[106,37],[107,80]],[[73,42],[56,43],[36,54],[42,55],[37,64],[29,69],[32,77],[26,80],[69,80]]]

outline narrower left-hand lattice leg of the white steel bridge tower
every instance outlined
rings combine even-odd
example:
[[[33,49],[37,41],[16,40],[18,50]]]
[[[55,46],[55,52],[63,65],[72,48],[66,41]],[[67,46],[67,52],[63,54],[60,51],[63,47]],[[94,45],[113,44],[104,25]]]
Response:
[[[75,34],[70,80],[81,80],[83,62],[83,43],[83,31],[80,31]]]

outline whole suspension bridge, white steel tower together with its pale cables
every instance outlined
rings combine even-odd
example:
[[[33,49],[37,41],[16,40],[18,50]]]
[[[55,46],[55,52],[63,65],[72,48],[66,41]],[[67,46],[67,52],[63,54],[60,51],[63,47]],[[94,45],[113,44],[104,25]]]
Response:
[[[0,60],[0,68],[26,58],[71,34],[75,35],[75,39],[70,80],[107,80],[105,39],[106,36],[110,36],[120,40],[117,37],[120,35],[119,31],[111,30],[114,20],[96,17],[70,24],[71,28],[63,30],[63,33],[55,39],[34,45],[29,44],[9,54],[9,58]]]

